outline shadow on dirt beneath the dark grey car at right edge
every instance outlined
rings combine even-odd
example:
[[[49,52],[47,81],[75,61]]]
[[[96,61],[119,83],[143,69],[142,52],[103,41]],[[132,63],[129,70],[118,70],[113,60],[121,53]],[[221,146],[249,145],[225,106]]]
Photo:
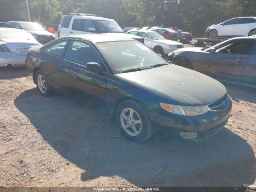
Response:
[[[256,103],[256,89],[249,88],[245,86],[223,83],[226,89],[228,90],[229,96],[232,98],[234,102],[240,102],[240,100]]]

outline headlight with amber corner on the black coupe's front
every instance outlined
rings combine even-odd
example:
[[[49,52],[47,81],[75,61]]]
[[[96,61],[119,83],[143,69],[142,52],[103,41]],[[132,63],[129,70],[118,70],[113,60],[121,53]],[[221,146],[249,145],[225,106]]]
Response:
[[[180,106],[180,105],[160,103],[160,106],[164,110],[177,115],[196,116],[196,115],[202,115],[208,112],[208,109],[204,105],[203,106]]]

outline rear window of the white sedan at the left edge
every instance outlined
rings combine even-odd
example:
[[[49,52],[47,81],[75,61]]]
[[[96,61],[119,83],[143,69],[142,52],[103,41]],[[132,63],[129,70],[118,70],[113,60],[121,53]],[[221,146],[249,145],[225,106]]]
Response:
[[[0,31],[0,39],[36,40],[30,33],[25,31]]]

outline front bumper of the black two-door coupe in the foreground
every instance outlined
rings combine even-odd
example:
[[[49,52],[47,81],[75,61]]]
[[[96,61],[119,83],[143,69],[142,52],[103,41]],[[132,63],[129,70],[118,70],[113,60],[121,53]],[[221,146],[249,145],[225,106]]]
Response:
[[[197,137],[192,140],[203,140],[218,133],[228,121],[232,109],[232,102],[228,97],[228,105],[224,110],[208,111],[200,116],[181,116],[158,109],[150,114],[151,120],[160,125],[171,128],[170,130],[179,134],[180,132],[197,132]]]

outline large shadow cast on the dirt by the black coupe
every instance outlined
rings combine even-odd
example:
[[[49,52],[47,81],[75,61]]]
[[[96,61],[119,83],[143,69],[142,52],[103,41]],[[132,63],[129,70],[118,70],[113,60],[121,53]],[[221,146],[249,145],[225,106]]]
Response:
[[[124,139],[108,116],[67,96],[43,97],[31,89],[14,103],[45,141],[85,170],[82,181],[120,176],[136,186],[199,186],[195,177],[202,186],[241,186],[255,180],[251,146],[226,128],[202,142],[154,134],[136,144]],[[166,170],[152,177],[165,164]]]

